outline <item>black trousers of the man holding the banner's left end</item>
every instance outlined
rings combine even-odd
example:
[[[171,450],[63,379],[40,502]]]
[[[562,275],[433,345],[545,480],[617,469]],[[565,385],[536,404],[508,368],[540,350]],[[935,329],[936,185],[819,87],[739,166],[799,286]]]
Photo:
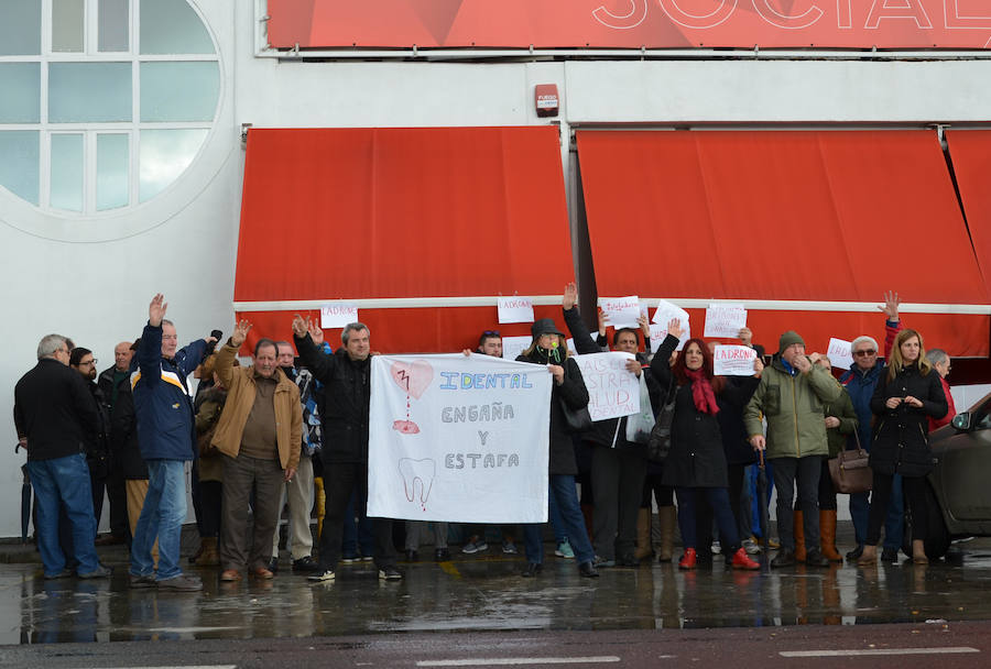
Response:
[[[324,462],[326,504],[324,506],[324,529],[320,533],[320,571],[337,569],[337,562],[340,560],[345,513],[352,492],[357,505],[355,511],[363,515],[368,507],[368,465],[362,462]],[[372,533],[375,536],[375,566],[379,569],[394,567],[395,545],[392,542],[392,519],[370,519]]]

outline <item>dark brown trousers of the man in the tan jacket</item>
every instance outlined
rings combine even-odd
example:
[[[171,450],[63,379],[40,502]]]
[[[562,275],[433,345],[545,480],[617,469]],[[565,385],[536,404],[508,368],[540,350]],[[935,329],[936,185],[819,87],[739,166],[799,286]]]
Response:
[[[222,535],[220,564],[224,569],[268,567],[272,559],[272,536],[282,511],[285,472],[279,460],[224,456]],[[254,537],[248,544],[248,504],[254,495]],[[200,487],[200,493],[203,492]]]

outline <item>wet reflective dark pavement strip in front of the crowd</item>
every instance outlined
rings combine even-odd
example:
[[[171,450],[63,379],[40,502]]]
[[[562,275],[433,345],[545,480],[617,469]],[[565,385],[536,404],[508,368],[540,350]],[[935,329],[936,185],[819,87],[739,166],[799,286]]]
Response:
[[[988,618],[991,541],[962,545],[928,567],[834,566],[734,572],[676,566],[603,569],[581,579],[551,559],[537,579],[502,556],[401,564],[380,582],[371,563],[341,566],[313,584],[283,570],[274,581],[220,584],[200,569],[202,593],[128,590],[127,567],[105,581],[45,581],[40,566],[0,566],[0,644],[337,636],[480,629],[631,629],[852,625]]]

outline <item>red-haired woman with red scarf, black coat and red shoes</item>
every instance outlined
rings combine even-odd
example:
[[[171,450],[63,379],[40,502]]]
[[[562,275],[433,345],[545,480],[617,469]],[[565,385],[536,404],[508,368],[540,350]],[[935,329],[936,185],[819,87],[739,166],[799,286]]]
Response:
[[[695,569],[697,561],[696,498],[704,496],[712,507],[727,561],[733,569],[760,569],[740,547],[737,522],[729,503],[726,453],[716,415],[720,410],[743,410],[750,396],[747,388],[727,384],[712,375],[712,359],[701,339],[689,339],[673,368],[667,359],[678,346],[680,322],[673,319],[667,338],[651,362],[651,373],[668,393],[674,393],[675,412],[671,432],[671,452],[664,462],[665,485],[672,485],[678,500],[678,527],[685,555],[680,569]],[[760,374],[758,359],[754,372]],[[751,391],[752,392],[752,391]]]

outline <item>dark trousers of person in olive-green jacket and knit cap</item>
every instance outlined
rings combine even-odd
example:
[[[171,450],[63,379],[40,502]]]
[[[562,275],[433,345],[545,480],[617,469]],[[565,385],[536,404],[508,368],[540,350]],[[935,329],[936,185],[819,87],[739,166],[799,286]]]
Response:
[[[819,550],[819,479],[823,476],[823,456],[774,458],[771,462],[774,464],[774,486],[777,489],[777,536],[781,537],[781,547],[784,550],[795,550],[794,507],[802,509],[805,548]]]

